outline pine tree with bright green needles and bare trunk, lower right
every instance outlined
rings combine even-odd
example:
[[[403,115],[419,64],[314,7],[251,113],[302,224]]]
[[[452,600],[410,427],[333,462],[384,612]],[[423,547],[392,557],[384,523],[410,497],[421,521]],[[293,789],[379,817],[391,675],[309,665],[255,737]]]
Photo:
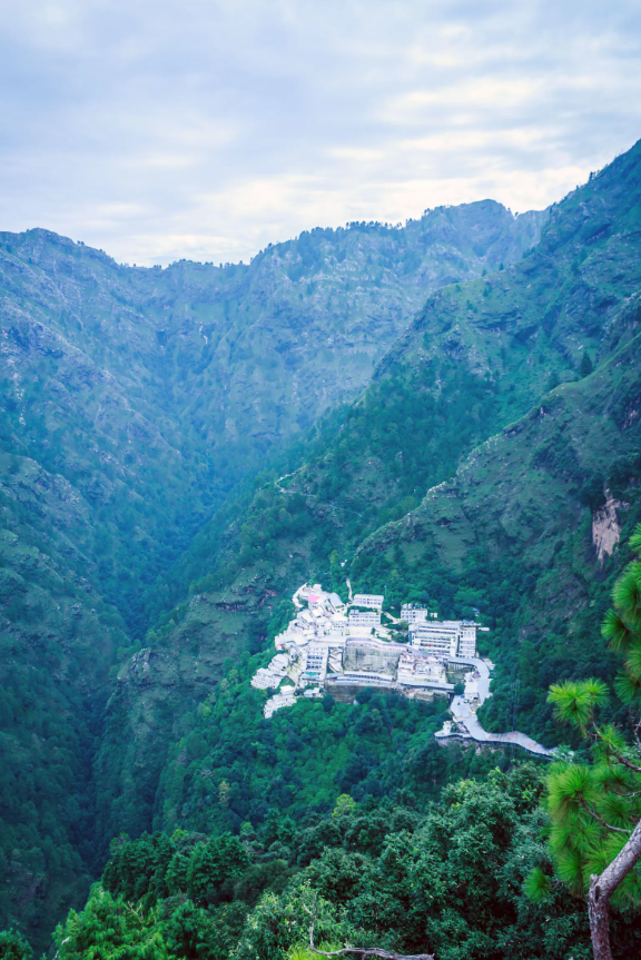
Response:
[[[629,707],[630,729],[600,721],[609,703],[599,680],[565,682],[550,689],[558,717],[591,743],[592,763],[564,760],[550,769],[550,845],[561,879],[586,894],[595,960],[612,960],[609,910],[641,902],[641,524],[630,540],[634,560],[614,585],[614,606],[603,636],[623,657],[615,680],[618,699]],[[543,899],[550,881],[530,877],[533,897]]]

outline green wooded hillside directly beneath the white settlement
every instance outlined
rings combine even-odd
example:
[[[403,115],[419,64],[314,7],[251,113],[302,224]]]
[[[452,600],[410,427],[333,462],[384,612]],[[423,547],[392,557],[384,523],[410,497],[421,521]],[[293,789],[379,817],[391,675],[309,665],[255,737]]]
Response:
[[[171,750],[164,829],[238,831],[270,809],[297,822],[327,814],[339,794],[381,798],[395,789],[434,796],[450,771],[481,773],[482,758],[438,750],[446,701],[408,701],[361,690],[357,702],[303,699],[263,719],[267,695],[248,681],[263,656],[233,669],[198,707]]]

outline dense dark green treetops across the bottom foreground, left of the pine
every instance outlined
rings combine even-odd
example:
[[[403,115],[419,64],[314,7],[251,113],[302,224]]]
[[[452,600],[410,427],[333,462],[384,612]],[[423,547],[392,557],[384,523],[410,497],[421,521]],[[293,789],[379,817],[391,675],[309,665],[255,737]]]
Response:
[[[228,960],[307,957],[316,943],[378,946],[444,960],[588,960],[582,904],[553,882],[540,905],[524,893],[535,860],[553,874],[541,838],[540,771],[490,771],[445,788],[424,812],[405,791],[302,820],[272,811],[238,838],[176,831],[120,839],[86,909],[59,927],[59,956]],[[554,875],[554,874],[553,874]],[[613,918],[617,957],[640,946],[638,926]],[[296,952],[298,951],[298,952]],[[313,954],[309,954],[313,956]]]

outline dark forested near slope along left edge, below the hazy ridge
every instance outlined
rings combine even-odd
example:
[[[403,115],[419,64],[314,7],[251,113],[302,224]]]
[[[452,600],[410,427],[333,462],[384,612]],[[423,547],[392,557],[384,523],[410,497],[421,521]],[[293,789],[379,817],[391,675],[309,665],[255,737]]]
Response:
[[[28,458],[0,453],[0,923],[46,946],[38,932],[88,890],[93,754],[109,667],[128,641],[69,563],[66,531],[90,532],[73,487]]]

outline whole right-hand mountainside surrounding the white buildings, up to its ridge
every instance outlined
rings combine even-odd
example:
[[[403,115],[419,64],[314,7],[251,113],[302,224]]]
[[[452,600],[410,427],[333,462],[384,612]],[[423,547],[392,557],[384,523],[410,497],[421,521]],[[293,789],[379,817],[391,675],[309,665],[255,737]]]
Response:
[[[428,601],[444,615],[480,607],[501,674],[487,722],[512,722],[506,685],[520,679],[522,725],[559,735],[543,704],[556,672],[612,672],[598,624],[625,554],[599,558],[591,524],[608,485],[630,504],[609,498],[618,528],[637,509],[640,228],[638,145],[553,208],[529,256],[431,297],[335,437],[230,524],[221,517],[196,537],[174,572],[185,591],[191,582],[188,604],[160,620],[110,702],[107,833],[152,815],[157,827],[180,824],[195,809],[234,827],[253,809],[264,786],[243,784],[255,761],[217,759],[230,730],[204,720],[191,736],[191,711],[243,652],[268,645],[308,578],[341,591],[351,573],[392,604]],[[295,793],[308,773],[297,758],[274,771],[265,738],[273,779]],[[320,736],[314,752],[324,751],[332,740]],[[361,764],[352,788],[376,762]],[[235,804],[207,811],[223,781],[241,786]]]

